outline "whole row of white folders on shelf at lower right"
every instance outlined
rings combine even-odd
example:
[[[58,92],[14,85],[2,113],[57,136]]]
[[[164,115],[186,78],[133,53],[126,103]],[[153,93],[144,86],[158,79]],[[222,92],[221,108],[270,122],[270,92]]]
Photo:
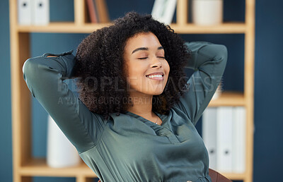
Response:
[[[245,107],[207,107],[202,115],[202,138],[209,153],[209,168],[245,172]]]

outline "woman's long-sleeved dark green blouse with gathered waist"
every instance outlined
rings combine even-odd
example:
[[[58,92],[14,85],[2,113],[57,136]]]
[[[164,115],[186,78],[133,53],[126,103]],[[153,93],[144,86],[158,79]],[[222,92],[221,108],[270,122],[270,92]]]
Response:
[[[187,80],[189,91],[168,116],[156,113],[161,126],[129,111],[112,113],[107,121],[89,111],[63,82],[72,75],[72,51],[28,59],[23,78],[101,181],[211,181],[207,149],[195,124],[220,83],[227,49],[210,42],[186,44],[192,55],[186,67],[195,72]]]

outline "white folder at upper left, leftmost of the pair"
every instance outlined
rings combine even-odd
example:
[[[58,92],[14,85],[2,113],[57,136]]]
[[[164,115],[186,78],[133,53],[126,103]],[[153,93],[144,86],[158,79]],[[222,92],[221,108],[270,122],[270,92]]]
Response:
[[[32,24],[32,0],[18,0],[18,25]]]

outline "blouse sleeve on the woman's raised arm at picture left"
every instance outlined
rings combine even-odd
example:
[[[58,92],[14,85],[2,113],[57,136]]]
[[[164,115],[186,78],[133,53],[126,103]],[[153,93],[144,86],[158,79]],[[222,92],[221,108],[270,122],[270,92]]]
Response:
[[[71,52],[45,53],[26,60],[23,78],[33,97],[81,153],[96,145],[105,124],[103,117],[89,111],[63,82],[71,77],[76,61]]]

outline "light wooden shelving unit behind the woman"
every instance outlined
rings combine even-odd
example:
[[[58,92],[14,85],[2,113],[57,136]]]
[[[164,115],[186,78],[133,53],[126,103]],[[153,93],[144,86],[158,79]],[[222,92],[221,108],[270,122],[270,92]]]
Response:
[[[13,129],[13,181],[30,182],[32,176],[76,177],[77,182],[97,177],[83,162],[76,167],[52,169],[46,159],[31,155],[31,104],[30,91],[23,80],[23,63],[30,57],[31,32],[91,33],[110,23],[87,23],[85,1],[74,0],[74,23],[50,23],[47,26],[23,26],[17,21],[17,1],[10,0],[11,36],[11,87]],[[223,174],[231,180],[253,181],[253,95],[255,49],[255,0],[246,0],[246,20],[241,23],[222,23],[214,26],[197,26],[187,23],[187,0],[178,0],[177,20],[171,28],[181,34],[244,34],[244,92],[223,92],[212,100],[209,107],[242,106],[246,108],[246,171],[243,174]]]

